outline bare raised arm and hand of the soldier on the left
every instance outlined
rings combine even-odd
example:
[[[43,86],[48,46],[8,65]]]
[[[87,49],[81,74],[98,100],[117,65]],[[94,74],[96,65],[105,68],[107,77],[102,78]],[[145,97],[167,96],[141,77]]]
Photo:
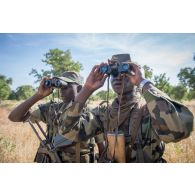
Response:
[[[39,100],[50,95],[53,91],[52,88],[44,87],[45,80],[48,77],[44,77],[40,83],[38,91],[29,99],[18,105],[14,110],[9,114],[8,118],[13,122],[22,122],[25,121],[28,117],[29,109]]]

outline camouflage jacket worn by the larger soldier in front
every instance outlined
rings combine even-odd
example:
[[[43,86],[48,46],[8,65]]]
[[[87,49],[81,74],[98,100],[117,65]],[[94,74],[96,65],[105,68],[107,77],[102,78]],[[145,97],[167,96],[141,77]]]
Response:
[[[133,146],[129,162],[140,162],[137,146],[141,146],[144,160],[141,162],[159,162],[163,152],[163,142],[177,142],[188,137],[193,130],[193,115],[184,105],[171,100],[166,94],[150,88],[143,97],[130,100],[121,106],[119,130],[125,134],[126,146],[130,143],[129,124],[132,109],[137,101],[143,101],[145,111],[139,124],[136,143]],[[118,99],[109,107],[110,126],[107,128],[107,108],[97,107],[93,111],[82,114],[83,105],[75,102],[60,117],[61,133],[74,132],[85,140],[99,131],[116,128]],[[128,154],[126,154],[128,155]]]

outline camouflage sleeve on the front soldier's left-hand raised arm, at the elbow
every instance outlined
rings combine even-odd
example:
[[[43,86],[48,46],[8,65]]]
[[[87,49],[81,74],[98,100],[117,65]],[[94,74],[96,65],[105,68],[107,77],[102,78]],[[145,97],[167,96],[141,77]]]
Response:
[[[81,103],[74,102],[61,114],[59,119],[61,134],[72,131],[77,133],[81,140],[86,140],[99,133],[101,124],[98,116],[91,111],[83,112],[83,106]]]

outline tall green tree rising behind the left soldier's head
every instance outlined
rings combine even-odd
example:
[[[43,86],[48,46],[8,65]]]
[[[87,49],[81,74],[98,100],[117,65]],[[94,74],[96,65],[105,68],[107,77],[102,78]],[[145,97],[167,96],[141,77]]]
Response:
[[[32,69],[29,73],[34,75],[37,78],[35,82],[39,82],[44,76],[61,76],[65,71],[75,71],[80,72],[82,69],[82,64],[72,60],[70,50],[60,50],[60,49],[50,49],[49,52],[44,54],[44,62],[47,66],[50,66],[51,70],[41,70],[41,73],[38,73],[36,69]]]

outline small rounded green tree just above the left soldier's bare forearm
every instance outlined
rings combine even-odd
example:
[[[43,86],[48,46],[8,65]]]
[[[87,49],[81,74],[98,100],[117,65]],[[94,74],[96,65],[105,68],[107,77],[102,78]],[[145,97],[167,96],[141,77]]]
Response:
[[[17,100],[24,100],[31,97],[35,93],[35,89],[31,85],[22,85],[16,89]]]

